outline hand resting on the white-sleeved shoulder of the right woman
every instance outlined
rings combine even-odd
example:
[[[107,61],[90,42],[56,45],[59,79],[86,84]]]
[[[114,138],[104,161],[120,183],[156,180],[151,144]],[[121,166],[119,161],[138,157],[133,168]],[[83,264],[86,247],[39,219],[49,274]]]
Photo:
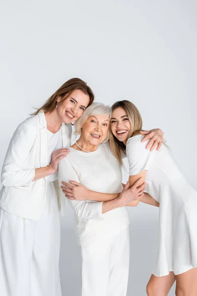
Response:
[[[146,145],[146,149],[150,148],[150,151],[153,151],[156,147],[157,150],[159,150],[162,146],[162,143],[164,141],[164,133],[161,129],[156,128],[151,131],[141,131],[141,135],[145,135],[145,137],[142,139],[142,142],[147,141],[150,139],[148,144]]]

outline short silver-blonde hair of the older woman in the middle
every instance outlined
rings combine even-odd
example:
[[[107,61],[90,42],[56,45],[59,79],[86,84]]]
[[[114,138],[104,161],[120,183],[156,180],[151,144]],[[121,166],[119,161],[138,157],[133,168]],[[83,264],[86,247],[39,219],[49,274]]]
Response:
[[[75,126],[75,134],[81,135],[82,132],[82,126],[84,122],[94,115],[103,115],[103,116],[109,116],[109,120],[111,118],[111,107],[105,106],[102,103],[93,103],[91,106],[89,106],[81,115],[79,119],[77,119],[74,123]],[[107,137],[104,141],[109,140],[109,129],[107,133]]]

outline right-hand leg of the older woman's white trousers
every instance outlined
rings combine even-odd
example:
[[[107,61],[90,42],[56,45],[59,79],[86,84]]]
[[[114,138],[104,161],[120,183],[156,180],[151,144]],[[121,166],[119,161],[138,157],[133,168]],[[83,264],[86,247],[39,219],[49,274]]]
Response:
[[[116,237],[110,256],[107,296],[126,296],[129,278],[130,236],[129,227]]]

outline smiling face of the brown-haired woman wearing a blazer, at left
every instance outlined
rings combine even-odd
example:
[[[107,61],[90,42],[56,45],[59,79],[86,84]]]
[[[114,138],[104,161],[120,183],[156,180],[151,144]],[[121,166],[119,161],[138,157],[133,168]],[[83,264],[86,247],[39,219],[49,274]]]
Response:
[[[90,97],[80,89],[76,89],[65,101],[61,103],[60,98],[58,98],[57,102],[57,112],[61,121],[71,123],[77,120],[88,107]]]

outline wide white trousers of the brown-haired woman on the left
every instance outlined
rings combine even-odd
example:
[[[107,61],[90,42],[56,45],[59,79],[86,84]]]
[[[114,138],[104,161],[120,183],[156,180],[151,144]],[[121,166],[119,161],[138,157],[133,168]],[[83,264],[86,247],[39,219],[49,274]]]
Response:
[[[60,215],[54,185],[38,221],[0,209],[0,295],[61,296]]]

